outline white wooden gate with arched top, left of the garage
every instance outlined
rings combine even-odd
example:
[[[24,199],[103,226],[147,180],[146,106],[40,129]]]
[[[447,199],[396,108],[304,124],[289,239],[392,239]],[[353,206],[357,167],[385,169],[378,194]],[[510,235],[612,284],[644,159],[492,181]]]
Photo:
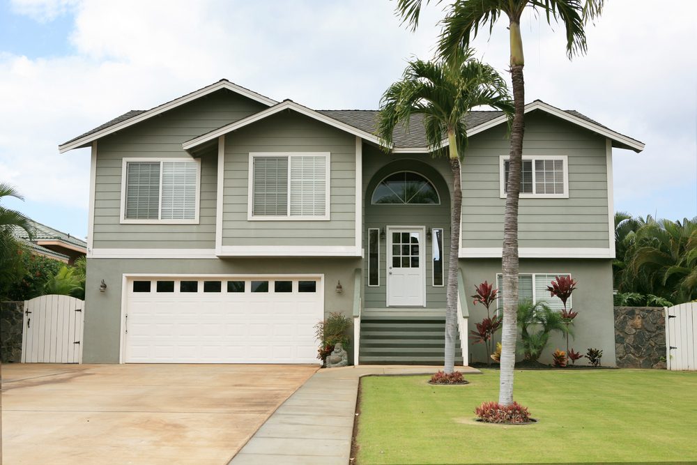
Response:
[[[24,301],[22,363],[82,363],[84,301],[41,296]]]

